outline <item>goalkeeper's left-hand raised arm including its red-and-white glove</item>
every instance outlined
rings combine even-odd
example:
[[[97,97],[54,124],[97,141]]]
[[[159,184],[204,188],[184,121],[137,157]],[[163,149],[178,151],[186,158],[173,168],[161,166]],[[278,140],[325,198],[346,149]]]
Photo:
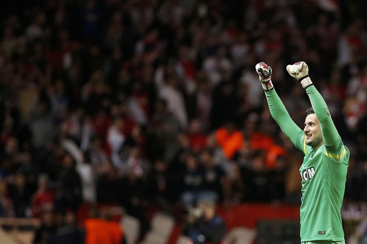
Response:
[[[297,149],[306,154],[305,135],[303,131],[293,122],[291,117],[275,92],[274,86],[271,82],[272,69],[261,62],[256,65],[256,71],[259,74],[260,81],[265,91],[266,100],[268,101],[270,113],[279,125],[280,129],[287,135]]]

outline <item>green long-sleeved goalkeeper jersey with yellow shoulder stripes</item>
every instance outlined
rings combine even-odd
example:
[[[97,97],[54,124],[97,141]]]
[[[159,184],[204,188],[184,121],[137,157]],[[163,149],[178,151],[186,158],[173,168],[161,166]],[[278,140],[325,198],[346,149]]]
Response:
[[[305,154],[302,178],[301,241],[344,241],[340,209],[344,197],[349,150],[342,143],[324,99],[315,86],[306,88],[320,121],[324,144],[313,150],[304,132],[292,121],[275,90],[265,92],[270,112],[281,130]]]

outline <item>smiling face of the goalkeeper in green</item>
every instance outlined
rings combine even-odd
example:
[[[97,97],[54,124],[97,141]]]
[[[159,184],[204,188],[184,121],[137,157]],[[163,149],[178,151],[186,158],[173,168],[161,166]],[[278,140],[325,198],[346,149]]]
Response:
[[[316,114],[309,114],[305,120],[305,129],[303,132],[306,135],[306,144],[313,149],[319,148],[324,144],[319,119]]]

